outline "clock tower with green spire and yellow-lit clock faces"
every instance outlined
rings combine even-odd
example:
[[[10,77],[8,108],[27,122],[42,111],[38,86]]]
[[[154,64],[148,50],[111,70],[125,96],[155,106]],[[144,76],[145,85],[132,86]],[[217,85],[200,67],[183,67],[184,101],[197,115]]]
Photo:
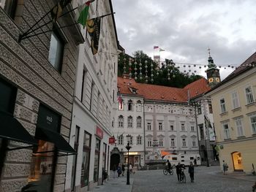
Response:
[[[208,69],[206,69],[208,84],[211,88],[217,85],[220,82],[219,69],[214,64],[214,59],[211,58],[210,49],[208,49],[209,57],[208,57]]]

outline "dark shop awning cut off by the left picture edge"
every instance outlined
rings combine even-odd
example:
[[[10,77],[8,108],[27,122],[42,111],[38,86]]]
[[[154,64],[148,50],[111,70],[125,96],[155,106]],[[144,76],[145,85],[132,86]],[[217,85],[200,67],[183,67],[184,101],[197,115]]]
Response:
[[[37,140],[12,115],[0,112],[0,137],[37,145]]]

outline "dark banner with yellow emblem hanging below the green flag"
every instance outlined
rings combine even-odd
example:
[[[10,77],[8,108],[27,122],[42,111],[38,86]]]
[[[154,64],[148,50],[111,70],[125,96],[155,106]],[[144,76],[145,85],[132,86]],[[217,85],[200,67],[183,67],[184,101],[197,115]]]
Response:
[[[99,48],[100,21],[102,17],[87,20],[86,28],[91,37],[91,51],[95,55]]]

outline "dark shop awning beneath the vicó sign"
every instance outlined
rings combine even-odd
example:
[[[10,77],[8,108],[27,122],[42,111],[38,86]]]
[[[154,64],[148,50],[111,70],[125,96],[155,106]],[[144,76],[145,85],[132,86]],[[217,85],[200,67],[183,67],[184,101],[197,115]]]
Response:
[[[69,145],[69,143],[55,131],[50,131],[47,128],[37,128],[36,137],[37,139],[42,139],[54,143],[55,147],[60,152],[73,154],[76,153],[75,150]]]

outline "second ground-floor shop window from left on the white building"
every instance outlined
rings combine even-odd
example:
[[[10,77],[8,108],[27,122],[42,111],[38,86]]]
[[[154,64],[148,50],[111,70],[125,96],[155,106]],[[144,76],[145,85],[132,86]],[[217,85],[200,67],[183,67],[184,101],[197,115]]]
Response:
[[[89,184],[89,165],[91,155],[91,134],[84,132],[83,135],[83,156],[82,156],[82,169],[81,169],[81,186],[87,186]]]

